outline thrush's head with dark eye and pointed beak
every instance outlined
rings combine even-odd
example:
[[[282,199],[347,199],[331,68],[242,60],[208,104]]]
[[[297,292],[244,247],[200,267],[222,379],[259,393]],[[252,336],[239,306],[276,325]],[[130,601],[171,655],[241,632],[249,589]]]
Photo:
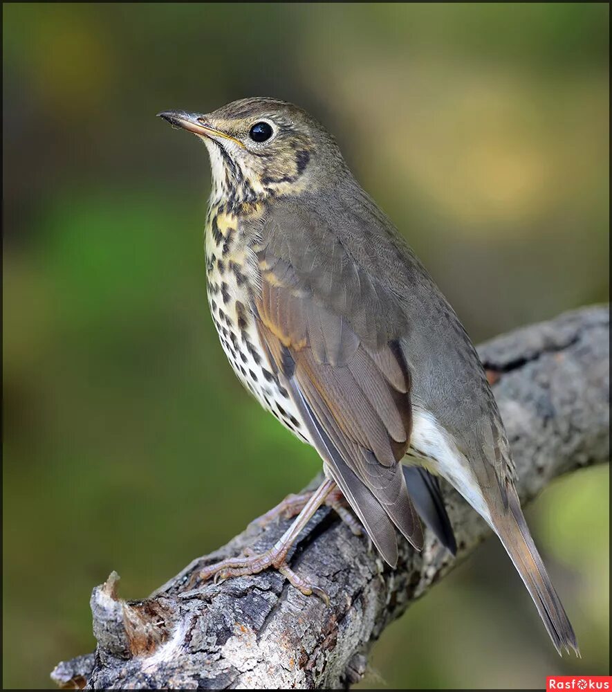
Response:
[[[344,170],[333,137],[306,111],[272,98],[244,98],[212,113],[165,111],[171,125],[192,132],[210,155],[213,195],[254,201],[317,188]]]

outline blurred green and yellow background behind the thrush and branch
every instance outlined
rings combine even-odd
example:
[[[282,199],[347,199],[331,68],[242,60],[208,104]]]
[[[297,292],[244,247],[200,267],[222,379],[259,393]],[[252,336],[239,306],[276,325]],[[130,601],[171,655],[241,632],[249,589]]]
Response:
[[[241,386],[205,300],[203,147],[155,117],[301,104],[481,341],[608,295],[608,3],[3,5],[4,686],[93,648],[319,468]],[[376,644],[364,689],[608,671],[608,468],[528,519],[582,659],[488,541]]]

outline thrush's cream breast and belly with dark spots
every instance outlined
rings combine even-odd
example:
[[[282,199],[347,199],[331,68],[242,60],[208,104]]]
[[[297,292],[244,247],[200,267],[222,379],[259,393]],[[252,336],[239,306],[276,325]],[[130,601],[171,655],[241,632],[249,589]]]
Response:
[[[241,383],[288,430],[310,443],[297,408],[268,367],[250,307],[259,269],[244,242],[244,228],[260,214],[256,205],[232,209],[223,202],[210,203],[205,227],[208,304],[223,351]]]

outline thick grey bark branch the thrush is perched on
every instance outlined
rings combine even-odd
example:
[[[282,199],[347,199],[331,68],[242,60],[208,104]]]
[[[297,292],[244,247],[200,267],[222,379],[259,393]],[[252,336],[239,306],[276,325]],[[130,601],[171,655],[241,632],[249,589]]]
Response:
[[[609,458],[609,309],[592,307],[513,331],[479,349],[528,502],[554,477]],[[122,601],[111,574],[91,597],[95,654],[59,664],[53,680],[85,689],[346,689],[382,630],[490,530],[449,486],[453,559],[427,532],[400,547],[396,570],[321,509],[291,564],[331,601],[304,597],[276,572],[189,589],[194,571],[275,543],[286,521],[248,527],[142,601]]]

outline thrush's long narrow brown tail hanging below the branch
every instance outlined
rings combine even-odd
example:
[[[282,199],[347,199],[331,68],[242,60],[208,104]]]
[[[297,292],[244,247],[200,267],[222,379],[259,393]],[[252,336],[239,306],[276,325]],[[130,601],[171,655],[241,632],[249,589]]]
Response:
[[[508,489],[508,505],[510,511],[492,518],[494,529],[528,588],[559,654],[563,647],[567,652],[572,648],[579,656],[576,635],[533,543],[519,498],[513,489]]]

